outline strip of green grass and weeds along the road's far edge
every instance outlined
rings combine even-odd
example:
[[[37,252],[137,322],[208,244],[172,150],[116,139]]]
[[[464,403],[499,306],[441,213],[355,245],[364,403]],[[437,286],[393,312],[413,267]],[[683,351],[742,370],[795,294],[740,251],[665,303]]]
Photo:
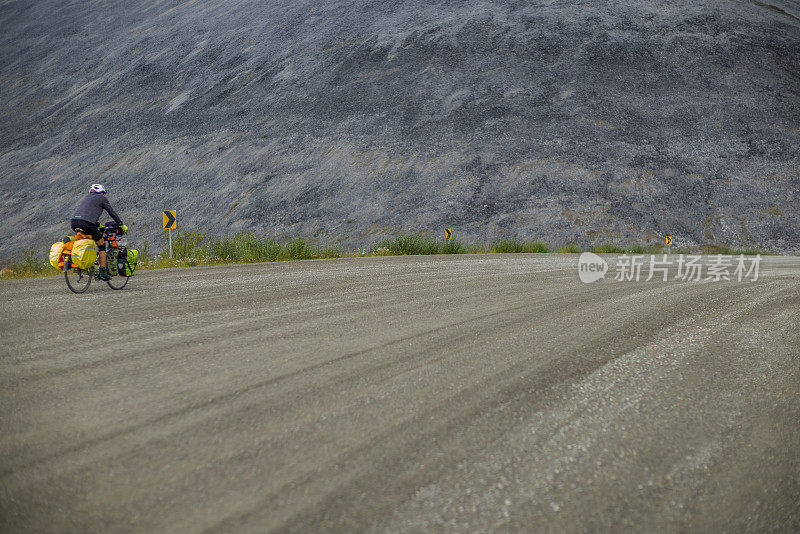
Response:
[[[140,269],[163,267],[191,267],[196,265],[220,265],[228,263],[256,263],[284,260],[310,260],[354,256],[398,256],[418,254],[507,254],[507,253],[580,253],[590,250],[597,254],[663,254],[666,247],[654,244],[602,243],[584,249],[576,243],[553,248],[544,241],[522,240],[517,237],[501,239],[490,244],[465,244],[456,239],[437,239],[430,234],[400,233],[393,239],[384,239],[371,249],[342,253],[331,244],[315,244],[295,238],[279,242],[272,237],[253,233],[229,236],[204,236],[197,231],[178,231],[173,239],[173,257],[166,247],[160,254],[150,253],[150,244],[145,241],[139,247]],[[700,249],[672,247],[674,254],[724,254],[770,255],[771,252],[755,248],[731,248],[724,245],[704,246]],[[60,274],[50,266],[47,254],[37,255],[33,250],[23,251],[22,258],[0,266],[0,280],[9,278],[31,278]]]

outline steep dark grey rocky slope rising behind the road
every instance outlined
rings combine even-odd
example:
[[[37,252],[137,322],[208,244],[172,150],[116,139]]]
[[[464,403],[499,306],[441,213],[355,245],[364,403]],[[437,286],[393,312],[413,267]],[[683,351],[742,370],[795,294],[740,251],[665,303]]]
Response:
[[[6,1],[0,256],[133,229],[800,252],[800,2]],[[42,250],[44,252],[44,250]]]

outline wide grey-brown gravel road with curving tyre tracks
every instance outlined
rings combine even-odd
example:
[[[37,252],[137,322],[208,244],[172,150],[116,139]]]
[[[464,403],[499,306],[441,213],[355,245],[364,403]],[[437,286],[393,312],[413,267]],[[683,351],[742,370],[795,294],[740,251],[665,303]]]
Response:
[[[800,258],[0,282],[0,531],[800,529]]]

